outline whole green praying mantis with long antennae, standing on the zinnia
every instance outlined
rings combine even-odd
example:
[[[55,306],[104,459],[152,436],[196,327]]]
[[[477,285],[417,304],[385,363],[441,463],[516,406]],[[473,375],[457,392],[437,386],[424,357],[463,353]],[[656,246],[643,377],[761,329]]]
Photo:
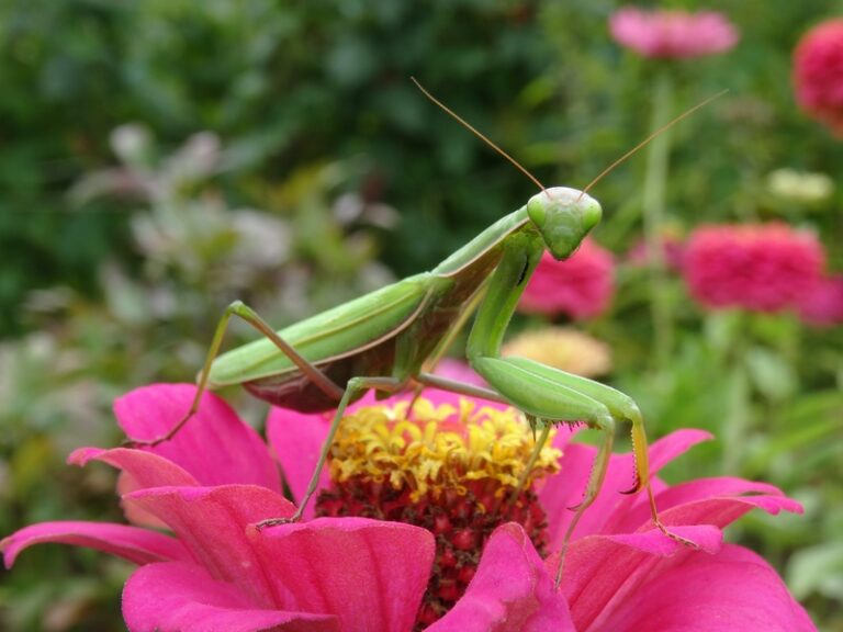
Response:
[[[525,171],[480,132],[418,87]],[[685,112],[671,124],[707,102]],[[150,445],[170,439],[195,414],[201,395],[209,387],[241,384],[261,399],[300,411],[336,408],[316,470],[297,512],[290,519],[296,520],[316,489],[334,436],[350,403],[369,390],[389,394],[409,387],[434,386],[508,403],[542,428],[584,421],[602,431],[603,440],[583,500],[574,508],[576,514],[562,543],[563,555],[580,517],[600,489],[611,454],[615,427],[621,422],[631,424],[636,464],[634,485],[628,493],[645,489],[655,527],[665,535],[693,545],[671,533],[659,519],[650,486],[643,419],[630,397],[605,384],[532,360],[501,357],[501,345],[518,298],[543,251],[549,250],[555,259],[566,259],[599,222],[600,205],[587,191],[609,169],[583,191],[562,187],[544,189],[527,173],[542,191],[521,208],[492,224],[431,271],[403,279],[278,332],[241,302],[233,303],[216,327],[190,410],[166,436],[135,443]],[[442,352],[447,341],[474,308],[476,317],[465,354],[490,388],[445,380],[426,371],[429,361]],[[233,316],[246,320],[265,337],[217,357]],[[540,433],[533,454],[541,450],[547,435],[544,431]],[[560,562],[557,582],[561,568]]]

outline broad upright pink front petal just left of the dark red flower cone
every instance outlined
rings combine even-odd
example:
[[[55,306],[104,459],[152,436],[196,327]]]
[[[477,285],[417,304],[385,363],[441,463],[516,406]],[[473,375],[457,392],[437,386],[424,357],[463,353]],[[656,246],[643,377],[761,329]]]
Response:
[[[282,609],[335,614],[342,630],[408,631],[435,542],[418,527],[318,518],[250,531]]]

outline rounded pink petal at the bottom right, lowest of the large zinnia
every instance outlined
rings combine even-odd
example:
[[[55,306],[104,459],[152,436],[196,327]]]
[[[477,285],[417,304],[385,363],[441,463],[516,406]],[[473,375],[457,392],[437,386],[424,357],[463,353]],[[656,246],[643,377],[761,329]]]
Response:
[[[631,588],[595,621],[615,632],[807,632],[805,610],[764,560],[726,545],[715,556],[695,555]]]

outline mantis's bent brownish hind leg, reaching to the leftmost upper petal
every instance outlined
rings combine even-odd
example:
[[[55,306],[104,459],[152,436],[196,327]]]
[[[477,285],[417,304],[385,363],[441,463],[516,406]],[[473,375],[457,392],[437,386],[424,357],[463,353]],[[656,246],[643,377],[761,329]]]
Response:
[[[283,338],[276,334],[272,327],[266,320],[263,320],[263,318],[261,318],[257,312],[255,312],[251,307],[241,301],[235,301],[225,308],[220,323],[216,325],[214,337],[211,341],[211,347],[209,348],[207,356],[205,357],[205,363],[203,364],[202,371],[199,374],[199,387],[196,388],[196,394],[193,397],[193,402],[191,403],[190,408],[184,414],[184,417],[182,417],[178,424],[170,428],[167,433],[161,435],[160,437],[144,441],[128,440],[125,441],[124,444],[138,448],[153,447],[162,443],[164,441],[169,441],[196,414],[199,410],[199,404],[202,400],[202,395],[207,390],[207,379],[211,374],[211,365],[214,363],[214,360],[220,353],[220,347],[223,343],[223,338],[225,337],[225,332],[228,329],[228,323],[233,316],[237,316],[241,320],[245,320],[255,329],[263,334],[263,336],[269,338],[269,340],[271,340],[276,347],[278,347],[282,353],[284,353],[284,356],[290,358],[290,360],[292,360],[299,370],[304,375],[306,375],[316,386],[318,386],[328,397],[331,397],[337,402],[341,399],[344,393],[342,387],[338,386],[334,381],[325,375],[325,373],[319,371],[317,366],[304,359],[295,349],[293,349],[293,347],[290,346],[290,343],[288,343]]]

